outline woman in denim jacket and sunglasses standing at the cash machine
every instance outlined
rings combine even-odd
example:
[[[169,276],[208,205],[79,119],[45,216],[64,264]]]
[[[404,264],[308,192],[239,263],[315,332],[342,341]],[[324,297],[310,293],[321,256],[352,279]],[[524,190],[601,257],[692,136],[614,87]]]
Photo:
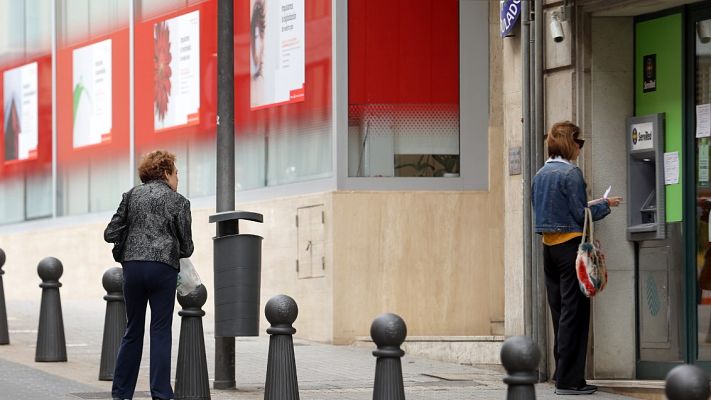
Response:
[[[590,208],[597,221],[620,204],[619,197],[592,202],[588,206],[583,173],[576,165],[585,141],[580,128],[569,121],[554,124],[548,132],[548,160],[533,178],[531,198],[535,230],[543,237],[543,263],[548,305],[553,318],[557,394],[593,394],[594,385],[585,381],[585,358],[590,325],[590,299],[578,286],[575,258]]]

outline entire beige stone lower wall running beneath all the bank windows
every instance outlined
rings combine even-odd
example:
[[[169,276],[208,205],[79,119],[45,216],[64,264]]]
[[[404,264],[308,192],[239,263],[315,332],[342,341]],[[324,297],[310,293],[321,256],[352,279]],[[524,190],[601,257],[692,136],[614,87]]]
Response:
[[[325,213],[324,276],[299,279],[295,217],[314,205]],[[411,336],[501,333],[503,207],[493,194],[336,192],[238,208],[264,214],[264,224],[243,222],[240,231],[264,237],[262,306],[275,294],[294,297],[297,336],[348,343],[367,336],[385,311],[405,318]],[[193,211],[192,260],[209,294],[212,212]],[[108,218],[0,234],[7,298],[37,300],[37,262],[53,255],[64,264],[63,298],[102,302],[101,276],[116,265],[102,239]],[[212,313],[211,299],[205,310]],[[261,330],[267,326],[262,319]]]

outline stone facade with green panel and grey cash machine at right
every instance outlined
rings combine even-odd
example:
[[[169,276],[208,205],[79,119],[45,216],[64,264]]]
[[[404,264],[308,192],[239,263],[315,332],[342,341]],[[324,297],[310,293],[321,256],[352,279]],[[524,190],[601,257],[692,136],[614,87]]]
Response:
[[[504,164],[523,154],[535,173],[546,129],[570,120],[588,142],[578,165],[590,198],[611,187],[625,199],[596,224],[609,283],[593,301],[588,376],[663,379],[681,363],[708,370],[710,5],[535,3],[540,25],[524,15],[523,26],[502,39],[503,65],[514,66],[504,69]],[[528,37],[536,45],[527,52]],[[519,201],[529,179],[525,172],[505,177],[506,333],[526,332],[550,349],[549,317],[541,322],[536,311],[544,304],[540,244],[533,237],[521,263],[516,241],[535,236]]]

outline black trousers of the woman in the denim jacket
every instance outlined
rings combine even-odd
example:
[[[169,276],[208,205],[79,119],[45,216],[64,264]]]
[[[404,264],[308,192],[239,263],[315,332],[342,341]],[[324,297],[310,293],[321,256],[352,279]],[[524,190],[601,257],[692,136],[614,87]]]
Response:
[[[580,387],[585,382],[585,359],[590,327],[590,299],[578,286],[575,257],[580,238],[543,246],[548,305],[553,317],[556,387]]]

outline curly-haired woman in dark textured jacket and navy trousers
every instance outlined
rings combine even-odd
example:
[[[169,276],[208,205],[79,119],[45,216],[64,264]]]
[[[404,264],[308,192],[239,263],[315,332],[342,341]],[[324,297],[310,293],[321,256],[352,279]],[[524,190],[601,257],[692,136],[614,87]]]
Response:
[[[114,399],[131,399],[136,388],[146,304],[151,306],[150,386],[153,399],[172,399],[171,325],[180,258],[193,253],[190,202],[177,193],[175,155],[156,150],[138,167],[142,185],[124,193],[104,231],[104,240],[122,243],[115,254],[123,266],[128,325],[114,370]],[[121,243],[119,243],[121,244]]]

